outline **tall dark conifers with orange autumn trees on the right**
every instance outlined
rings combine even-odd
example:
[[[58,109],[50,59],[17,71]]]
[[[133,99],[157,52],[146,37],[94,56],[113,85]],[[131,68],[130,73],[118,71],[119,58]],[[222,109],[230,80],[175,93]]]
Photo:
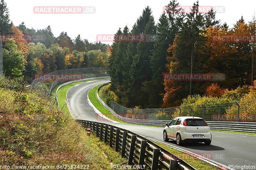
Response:
[[[255,21],[241,17],[232,28],[221,24],[213,10],[199,12],[198,1],[190,13],[171,0],[157,24],[146,7],[129,30],[116,35],[154,34],[155,41],[115,41],[109,57],[111,90],[126,107],[178,106],[188,95],[206,95],[207,87],[236,89],[252,84],[254,42],[212,41],[213,36],[255,35]],[[255,63],[254,63],[255,64]],[[255,68],[255,67],[254,67]],[[164,73],[223,73],[224,81],[163,80]],[[255,69],[253,70],[255,72]],[[255,74],[254,74],[255,75]],[[212,84],[213,83],[213,84]]]

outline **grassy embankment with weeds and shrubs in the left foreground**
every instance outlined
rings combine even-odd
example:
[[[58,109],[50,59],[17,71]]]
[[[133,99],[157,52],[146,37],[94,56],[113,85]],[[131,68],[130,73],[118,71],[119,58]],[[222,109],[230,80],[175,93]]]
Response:
[[[82,164],[105,170],[111,164],[127,164],[98,137],[87,137],[67,109],[57,110],[53,103],[50,97],[0,77],[0,165]],[[79,159],[53,159],[49,154]]]

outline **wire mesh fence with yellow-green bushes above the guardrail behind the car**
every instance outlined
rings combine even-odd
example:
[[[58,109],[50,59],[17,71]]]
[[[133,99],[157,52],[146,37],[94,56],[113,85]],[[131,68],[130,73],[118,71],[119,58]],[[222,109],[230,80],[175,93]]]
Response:
[[[206,121],[256,122],[256,107],[253,106],[255,101],[147,109],[127,108],[111,101],[111,108],[123,117],[142,120],[172,120],[178,116],[196,116]]]

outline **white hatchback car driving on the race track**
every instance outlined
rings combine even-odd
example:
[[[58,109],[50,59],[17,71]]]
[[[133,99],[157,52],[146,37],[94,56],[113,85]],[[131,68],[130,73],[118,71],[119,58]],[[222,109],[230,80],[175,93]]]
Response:
[[[200,117],[182,116],[174,118],[166,123],[164,128],[164,141],[176,140],[177,145],[186,142],[204,142],[209,145],[212,142],[212,134],[208,124]]]

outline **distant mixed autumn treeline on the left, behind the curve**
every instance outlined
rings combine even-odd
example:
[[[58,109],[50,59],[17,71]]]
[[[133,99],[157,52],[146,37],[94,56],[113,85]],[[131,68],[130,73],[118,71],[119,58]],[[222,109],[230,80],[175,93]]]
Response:
[[[27,28],[24,22],[13,26],[3,0],[0,10],[5,76],[25,76],[31,81],[37,73],[107,66],[109,45],[82,40],[80,35],[72,40],[67,32],[54,37],[50,26],[39,30]]]

